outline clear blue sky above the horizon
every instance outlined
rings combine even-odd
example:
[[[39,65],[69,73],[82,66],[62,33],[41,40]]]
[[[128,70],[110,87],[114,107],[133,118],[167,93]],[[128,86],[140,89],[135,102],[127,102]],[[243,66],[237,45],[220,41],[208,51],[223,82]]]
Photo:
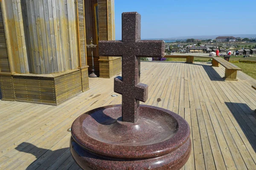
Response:
[[[116,40],[122,12],[141,14],[141,37],[256,34],[256,0],[115,0]]]

